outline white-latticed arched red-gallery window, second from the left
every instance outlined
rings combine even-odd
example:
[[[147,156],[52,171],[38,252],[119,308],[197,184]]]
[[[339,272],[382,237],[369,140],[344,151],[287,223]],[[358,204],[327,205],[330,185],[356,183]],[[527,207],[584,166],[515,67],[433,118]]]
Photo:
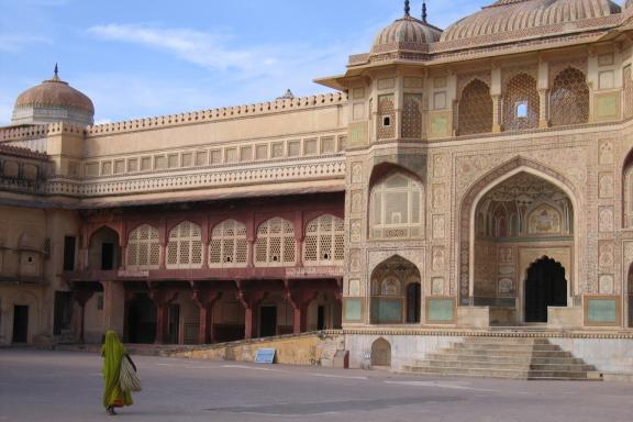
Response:
[[[167,268],[202,267],[202,232],[200,226],[184,221],[169,232]]]

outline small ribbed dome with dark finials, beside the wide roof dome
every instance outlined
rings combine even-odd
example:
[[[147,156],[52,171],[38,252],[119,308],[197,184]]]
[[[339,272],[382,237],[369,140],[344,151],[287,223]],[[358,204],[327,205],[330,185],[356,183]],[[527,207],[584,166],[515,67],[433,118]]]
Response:
[[[424,4],[422,20],[411,16],[409,2],[404,5],[404,16],[397,20],[376,35],[371,53],[385,53],[396,49],[422,51],[425,45],[440,41],[442,30],[426,22]]]

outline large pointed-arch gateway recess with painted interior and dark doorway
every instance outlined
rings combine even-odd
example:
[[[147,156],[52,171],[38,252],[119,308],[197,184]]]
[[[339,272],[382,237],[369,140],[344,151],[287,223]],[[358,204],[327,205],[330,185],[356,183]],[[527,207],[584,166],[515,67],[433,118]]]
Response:
[[[488,190],[474,219],[473,302],[506,308],[502,325],[547,322],[567,306],[574,209],[567,193],[521,171]]]

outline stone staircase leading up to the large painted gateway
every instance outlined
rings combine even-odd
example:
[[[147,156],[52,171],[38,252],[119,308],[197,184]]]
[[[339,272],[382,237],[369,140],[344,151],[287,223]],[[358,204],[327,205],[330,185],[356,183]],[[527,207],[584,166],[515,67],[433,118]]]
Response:
[[[547,338],[466,337],[401,373],[535,380],[600,380],[596,368]]]

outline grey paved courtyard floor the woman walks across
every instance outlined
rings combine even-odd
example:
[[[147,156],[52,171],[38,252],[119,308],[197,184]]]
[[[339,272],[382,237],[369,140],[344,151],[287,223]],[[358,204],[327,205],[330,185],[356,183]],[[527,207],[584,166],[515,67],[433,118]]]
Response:
[[[631,421],[633,385],[408,377],[387,371],[135,357],[144,391],[101,409],[95,354],[0,349],[0,421]]]

